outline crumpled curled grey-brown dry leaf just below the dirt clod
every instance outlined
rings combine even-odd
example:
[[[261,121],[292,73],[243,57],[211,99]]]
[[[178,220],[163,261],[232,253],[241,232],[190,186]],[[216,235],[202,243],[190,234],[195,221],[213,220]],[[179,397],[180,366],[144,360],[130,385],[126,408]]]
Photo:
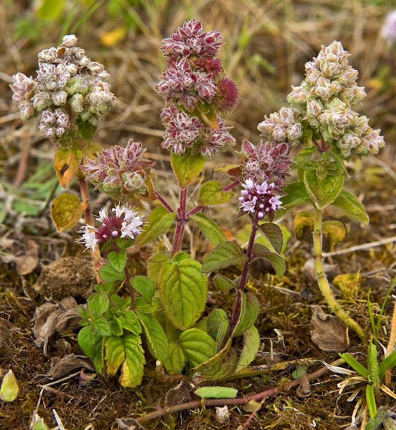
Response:
[[[44,354],[47,354],[49,339],[56,330],[73,331],[80,326],[81,316],[76,308],[74,298],[66,297],[60,303],[46,302],[36,309],[33,316],[34,343],[39,348],[43,346]]]

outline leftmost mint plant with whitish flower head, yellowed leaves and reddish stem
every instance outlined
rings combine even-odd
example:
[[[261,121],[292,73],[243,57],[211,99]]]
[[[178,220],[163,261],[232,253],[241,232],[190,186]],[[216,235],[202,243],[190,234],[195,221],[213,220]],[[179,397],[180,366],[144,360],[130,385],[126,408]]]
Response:
[[[75,35],[64,36],[57,48],[39,52],[35,79],[17,73],[10,85],[21,119],[40,116],[39,130],[57,145],[54,169],[60,185],[66,188],[74,176],[79,181],[82,202],[71,193],[52,202],[51,217],[58,232],[73,227],[83,213],[87,224],[94,225],[80,166],[98,149],[93,143],[95,132],[103,115],[115,105],[104,66],[91,61],[76,44]],[[99,248],[93,249],[92,255],[98,271]]]

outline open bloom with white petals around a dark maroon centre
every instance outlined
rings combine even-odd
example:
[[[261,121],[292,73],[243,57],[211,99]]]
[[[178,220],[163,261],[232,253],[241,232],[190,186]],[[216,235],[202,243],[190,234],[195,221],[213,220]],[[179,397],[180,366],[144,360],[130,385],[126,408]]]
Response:
[[[82,237],[77,239],[83,242],[86,248],[95,250],[98,243],[117,238],[135,239],[142,232],[144,214],[129,207],[127,204],[120,206],[116,204],[112,209],[115,214],[110,214],[100,209],[97,219],[102,223],[98,228],[90,225],[82,227],[77,233],[82,233]]]

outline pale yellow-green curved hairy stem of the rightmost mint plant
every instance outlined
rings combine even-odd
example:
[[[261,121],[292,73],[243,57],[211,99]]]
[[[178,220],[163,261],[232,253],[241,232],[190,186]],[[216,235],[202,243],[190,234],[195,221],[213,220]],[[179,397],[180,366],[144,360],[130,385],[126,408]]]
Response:
[[[322,264],[322,211],[315,208],[315,215],[313,221],[313,249],[315,258],[315,271],[316,278],[320,291],[323,297],[327,301],[332,312],[334,312],[341,321],[347,324],[347,326],[352,329],[361,339],[363,343],[366,342],[363,329],[356,323],[352,318],[350,318],[341,305],[338,303],[336,297],[330,289],[329,282],[326,278],[326,274],[323,270]]]

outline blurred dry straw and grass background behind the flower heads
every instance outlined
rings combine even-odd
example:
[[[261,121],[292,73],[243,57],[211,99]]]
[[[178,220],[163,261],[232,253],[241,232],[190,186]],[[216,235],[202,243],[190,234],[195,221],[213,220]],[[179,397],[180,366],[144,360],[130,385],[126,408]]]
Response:
[[[117,96],[116,107],[99,127],[98,143],[125,144],[134,138],[148,147],[154,160],[167,160],[167,152],[160,148],[164,101],[153,91],[165,69],[159,48],[163,38],[193,18],[201,20],[206,31],[220,30],[224,38],[220,57],[241,96],[225,118],[234,127],[236,150],[243,139],[259,142],[257,123],[286,103],[291,85],[299,85],[304,77],[304,63],[321,45],[339,40],[351,52],[350,64],[359,70],[358,84],[368,94],[356,110],[371,119],[373,128],[382,129],[387,146],[381,154],[392,163],[396,47],[381,37],[381,26],[395,8],[395,0],[3,0],[0,198],[14,193],[8,206],[20,212],[30,207],[20,198],[40,200],[52,186],[47,181],[48,189],[43,190],[37,187],[37,178],[33,183],[27,180],[37,172],[40,178],[51,176],[46,166],[55,148],[35,121],[20,121],[8,84],[17,71],[36,76],[37,53],[57,46],[68,33],[75,33],[78,46],[105,65]],[[231,154],[224,158],[232,161]],[[20,184],[25,190],[22,197],[16,191]],[[39,206],[26,210],[35,215]],[[0,223],[4,217],[3,210]]]

